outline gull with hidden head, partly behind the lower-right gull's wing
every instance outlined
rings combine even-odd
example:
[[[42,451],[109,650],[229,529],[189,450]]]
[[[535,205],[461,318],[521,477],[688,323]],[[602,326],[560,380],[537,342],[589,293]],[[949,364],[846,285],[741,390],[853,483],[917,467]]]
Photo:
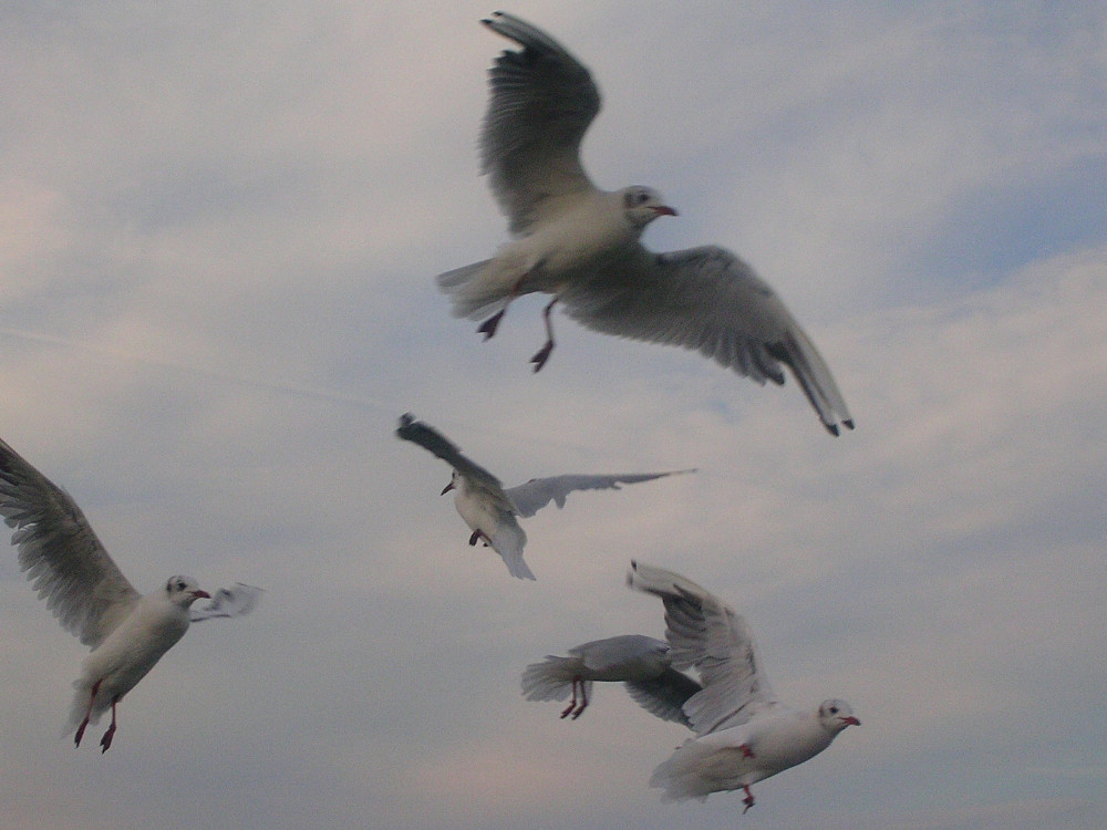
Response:
[[[589,704],[594,681],[622,683],[639,705],[663,720],[689,725],[681,708],[701,686],[672,667],[669,643],[644,634],[622,634],[593,640],[531,663],[523,672],[523,695],[528,701],[563,701],[572,695],[561,718],[576,720]]]

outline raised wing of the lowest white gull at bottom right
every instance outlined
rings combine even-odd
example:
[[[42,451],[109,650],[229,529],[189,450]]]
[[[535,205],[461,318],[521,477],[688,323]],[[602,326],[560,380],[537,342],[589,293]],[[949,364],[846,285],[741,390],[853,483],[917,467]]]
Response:
[[[694,666],[703,689],[684,704],[692,729],[738,726],[777,705],[745,621],[718,598],[671,571],[631,562],[631,588],[661,598],[673,665]]]

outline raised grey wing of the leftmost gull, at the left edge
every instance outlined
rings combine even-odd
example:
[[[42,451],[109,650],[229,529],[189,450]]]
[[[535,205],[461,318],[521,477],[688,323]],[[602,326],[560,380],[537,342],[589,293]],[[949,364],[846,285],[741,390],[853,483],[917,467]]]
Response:
[[[66,631],[95,649],[141,594],[100,543],[81,508],[0,440],[0,516],[39,596]]]

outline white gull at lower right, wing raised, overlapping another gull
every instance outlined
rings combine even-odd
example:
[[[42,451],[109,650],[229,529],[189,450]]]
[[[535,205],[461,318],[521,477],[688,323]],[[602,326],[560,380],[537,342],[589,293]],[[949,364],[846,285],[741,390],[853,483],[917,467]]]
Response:
[[[691,580],[631,562],[627,582],[661,598],[672,665],[694,667],[703,685],[683,705],[695,737],[650,779],[664,800],[705,800],[741,788],[745,812],[754,806],[752,785],[814,758],[847,726],[860,726],[838,698],[810,709],[777,701],[745,620]]]

